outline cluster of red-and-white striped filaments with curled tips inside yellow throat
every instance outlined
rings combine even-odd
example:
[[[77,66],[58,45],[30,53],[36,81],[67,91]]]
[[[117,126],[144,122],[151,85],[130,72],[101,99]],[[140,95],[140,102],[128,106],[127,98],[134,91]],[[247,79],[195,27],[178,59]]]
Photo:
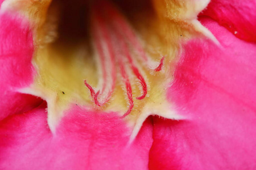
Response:
[[[155,68],[152,66],[154,62],[146,55],[130,24],[112,3],[108,1],[94,3],[91,17],[91,32],[98,53],[97,63],[99,63],[98,67],[101,68],[102,81],[100,81],[101,88],[97,92],[86,80],[84,81],[85,86],[88,87],[94,103],[101,107],[111,99],[117,73],[119,72],[126,89],[129,104],[128,110],[122,116],[125,117],[130,114],[134,107],[133,90],[127,70],[130,69],[130,72],[138,79],[141,86],[141,96],[136,97],[136,99],[142,100],[147,95],[148,86],[139,67],[146,66],[148,67],[147,69],[161,71],[164,57],[160,59],[158,66]],[[133,55],[133,50],[137,53],[138,57]],[[144,64],[138,65],[138,62]],[[99,101],[98,96],[102,96],[101,101]]]

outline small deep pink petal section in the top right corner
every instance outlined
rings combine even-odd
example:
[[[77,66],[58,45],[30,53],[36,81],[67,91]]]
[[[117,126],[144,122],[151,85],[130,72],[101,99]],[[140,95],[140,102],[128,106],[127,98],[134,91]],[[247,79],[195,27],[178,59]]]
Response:
[[[212,0],[200,15],[207,15],[238,38],[256,42],[256,1]]]

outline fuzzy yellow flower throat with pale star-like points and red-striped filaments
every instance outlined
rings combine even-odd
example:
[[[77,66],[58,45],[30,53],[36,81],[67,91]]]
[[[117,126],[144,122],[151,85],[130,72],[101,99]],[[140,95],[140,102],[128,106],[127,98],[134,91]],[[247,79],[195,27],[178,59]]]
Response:
[[[47,101],[52,131],[82,107],[119,113],[134,138],[150,114],[181,118],[166,94],[181,40],[214,40],[196,20],[203,2],[6,0],[1,9],[31,20],[36,75],[23,92]]]

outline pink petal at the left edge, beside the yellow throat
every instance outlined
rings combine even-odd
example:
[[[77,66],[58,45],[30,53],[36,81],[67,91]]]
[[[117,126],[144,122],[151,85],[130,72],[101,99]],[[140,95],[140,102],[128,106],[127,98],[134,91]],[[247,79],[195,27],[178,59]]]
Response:
[[[32,83],[34,46],[28,23],[18,16],[0,15],[0,120],[29,111],[41,100],[17,92]]]

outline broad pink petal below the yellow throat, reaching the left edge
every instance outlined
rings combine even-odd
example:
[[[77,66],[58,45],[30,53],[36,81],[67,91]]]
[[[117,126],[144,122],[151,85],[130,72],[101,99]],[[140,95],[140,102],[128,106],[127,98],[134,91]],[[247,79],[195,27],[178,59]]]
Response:
[[[136,141],[114,113],[72,107],[57,128],[47,125],[46,103],[0,124],[0,169],[147,169],[152,122]]]

